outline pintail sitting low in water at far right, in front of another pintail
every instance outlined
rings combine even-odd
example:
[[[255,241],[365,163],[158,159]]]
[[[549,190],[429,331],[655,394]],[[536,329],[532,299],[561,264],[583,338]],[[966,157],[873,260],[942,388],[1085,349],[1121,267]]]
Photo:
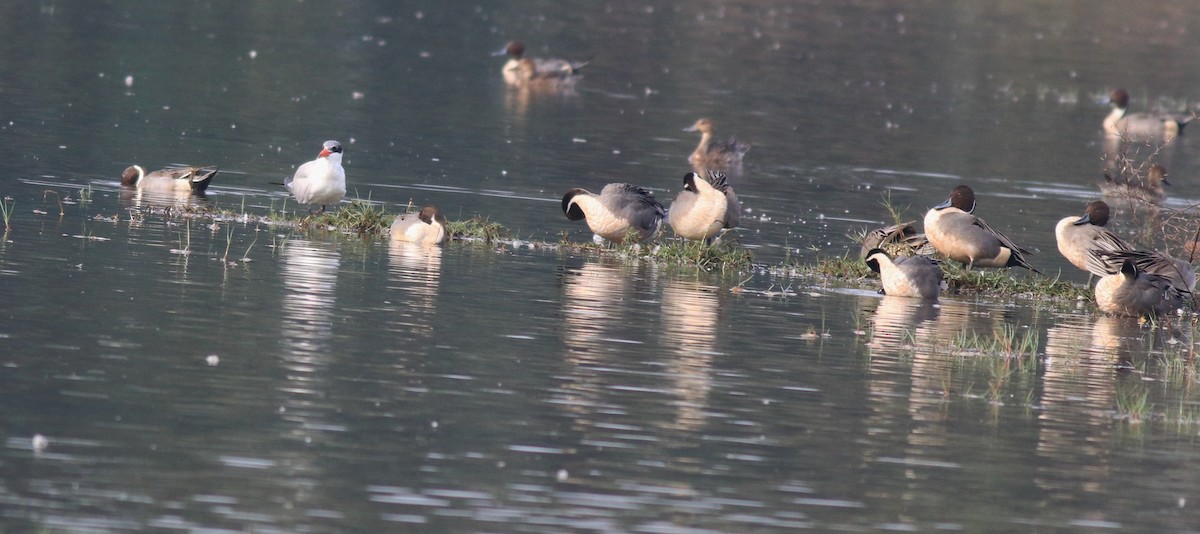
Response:
[[[1088,256],[1097,254],[1090,251]],[[1142,317],[1170,313],[1180,307],[1183,295],[1165,276],[1145,272],[1126,259],[1120,270],[1096,283],[1096,305],[1117,316]]]

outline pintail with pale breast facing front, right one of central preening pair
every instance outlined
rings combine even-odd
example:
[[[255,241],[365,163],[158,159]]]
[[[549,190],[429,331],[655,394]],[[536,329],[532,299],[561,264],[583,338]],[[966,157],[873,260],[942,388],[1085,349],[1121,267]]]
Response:
[[[742,203],[725,174],[716,170],[709,170],[707,178],[684,174],[683,191],[667,210],[667,223],[676,235],[706,242],[726,228],[736,228],[740,218]]]

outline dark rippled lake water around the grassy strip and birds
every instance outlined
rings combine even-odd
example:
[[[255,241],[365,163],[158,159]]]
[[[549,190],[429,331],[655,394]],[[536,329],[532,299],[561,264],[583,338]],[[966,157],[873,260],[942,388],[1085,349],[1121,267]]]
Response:
[[[0,10],[5,530],[1200,524],[1195,377],[1168,364],[1188,329],[167,216],[295,210],[270,182],[335,138],[350,197],[587,240],[563,191],[667,203],[680,130],[712,116],[754,145],[734,186],[757,262],[857,253],[884,193],[917,218],[967,182],[1036,266],[1082,283],[1052,226],[1097,194],[1097,100],[1198,98],[1187,4]],[[577,94],[508,90],[488,53],[510,38],[594,55]],[[1200,197],[1194,143],[1158,156],[1172,208]],[[120,191],[131,163],[221,174],[206,199],[155,198]],[[1027,337],[1036,356],[976,349]]]

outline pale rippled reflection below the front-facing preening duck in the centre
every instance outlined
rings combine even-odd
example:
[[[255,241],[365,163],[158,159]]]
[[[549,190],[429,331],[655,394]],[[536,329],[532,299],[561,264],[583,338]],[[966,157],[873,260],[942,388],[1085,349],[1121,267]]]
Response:
[[[662,289],[662,330],[674,358],[667,361],[672,390],[679,398],[676,427],[700,428],[713,389],[712,367],[721,302],[715,286],[672,278]]]

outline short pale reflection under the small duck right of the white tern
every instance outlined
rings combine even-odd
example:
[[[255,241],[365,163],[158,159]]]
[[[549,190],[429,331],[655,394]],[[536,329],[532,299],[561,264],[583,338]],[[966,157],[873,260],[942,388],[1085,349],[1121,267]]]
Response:
[[[414,338],[433,335],[442,280],[442,247],[392,240],[388,247],[388,288],[402,292],[402,305],[389,314],[389,329]]]

